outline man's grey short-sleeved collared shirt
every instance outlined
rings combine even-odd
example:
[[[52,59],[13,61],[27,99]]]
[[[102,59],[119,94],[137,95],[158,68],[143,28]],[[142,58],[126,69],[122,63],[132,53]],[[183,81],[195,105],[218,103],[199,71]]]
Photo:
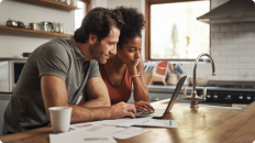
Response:
[[[55,38],[37,47],[26,61],[4,112],[3,134],[49,123],[41,90],[41,77],[53,75],[66,82],[68,103],[75,105],[89,78],[100,77],[97,61],[85,62],[73,36]]]

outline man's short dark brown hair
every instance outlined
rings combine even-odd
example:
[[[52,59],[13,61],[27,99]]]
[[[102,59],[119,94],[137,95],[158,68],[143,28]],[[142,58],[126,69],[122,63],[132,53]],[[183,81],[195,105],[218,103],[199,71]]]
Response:
[[[95,8],[87,13],[81,26],[75,31],[75,40],[79,43],[86,43],[89,33],[91,33],[97,35],[100,42],[110,34],[112,26],[121,31],[123,25],[122,14],[118,10]]]

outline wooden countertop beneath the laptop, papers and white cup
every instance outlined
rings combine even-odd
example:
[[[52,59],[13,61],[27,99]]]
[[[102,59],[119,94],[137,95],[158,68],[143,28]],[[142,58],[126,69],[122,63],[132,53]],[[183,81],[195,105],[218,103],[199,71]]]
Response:
[[[160,105],[160,103],[156,103]],[[176,103],[164,119],[177,120],[177,129],[146,128],[151,132],[118,143],[253,143],[255,102],[243,109]],[[51,128],[0,136],[2,143],[48,143]]]

